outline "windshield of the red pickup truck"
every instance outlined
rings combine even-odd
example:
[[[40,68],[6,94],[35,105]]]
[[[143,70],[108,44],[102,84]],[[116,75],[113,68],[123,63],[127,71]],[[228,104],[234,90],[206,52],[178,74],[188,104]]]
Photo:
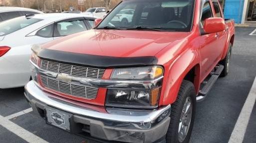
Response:
[[[190,31],[194,1],[125,0],[96,29]]]

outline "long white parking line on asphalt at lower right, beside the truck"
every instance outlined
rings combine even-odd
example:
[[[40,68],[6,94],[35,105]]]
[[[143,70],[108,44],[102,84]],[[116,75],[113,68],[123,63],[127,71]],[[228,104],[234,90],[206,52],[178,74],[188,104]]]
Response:
[[[251,114],[253,112],[255,101],[256,101],[256,78],[249,92],[249,95],[246,99],[244,107],[239,115],[236,126],[231,134],[229,143],[243,143],[247,126],[248,126]]]

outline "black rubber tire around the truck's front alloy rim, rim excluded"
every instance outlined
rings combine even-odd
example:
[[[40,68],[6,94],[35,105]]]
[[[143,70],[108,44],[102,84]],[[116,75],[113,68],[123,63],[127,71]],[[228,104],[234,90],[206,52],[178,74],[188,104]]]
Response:
[[[187,99],[191,99],[192,103],[192,115],[190,125],[187,128],[187,135],[184,137],[183,141],[181,141],[179,136],[179,125],[183,122],[181,121],[181,116],[183,113],[184,105]],[[168,132],[166,134],[166,143],[189,143],[190,136],[192,133],[192,129],[194,126],[195,120],[195,111],[196,111],[196,91],[192,82],[188,80],[183,80],[177,100],[174,104],[172,104],[171,111],[171,121],[168,128]],[[182,124],[183,125],[183,124]],[[180,130],[181,131],[181,130]]]

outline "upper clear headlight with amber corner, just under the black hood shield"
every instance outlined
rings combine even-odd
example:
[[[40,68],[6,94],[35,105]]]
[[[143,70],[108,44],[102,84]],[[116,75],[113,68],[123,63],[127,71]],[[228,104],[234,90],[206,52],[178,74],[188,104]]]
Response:
[[[160,66],[114,69],[111,79],[154,79],[164,74]]]

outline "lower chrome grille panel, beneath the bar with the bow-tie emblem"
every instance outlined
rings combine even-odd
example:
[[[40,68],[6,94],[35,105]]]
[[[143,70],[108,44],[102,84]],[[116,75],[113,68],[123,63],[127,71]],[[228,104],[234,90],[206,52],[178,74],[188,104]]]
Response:
[[[95,99],[98,94],[98,87],[85,86],[83,84],[74,84],[62,82],[56,78],[40,75],[41,84],[60,93],[83,97],[86,99]]]

